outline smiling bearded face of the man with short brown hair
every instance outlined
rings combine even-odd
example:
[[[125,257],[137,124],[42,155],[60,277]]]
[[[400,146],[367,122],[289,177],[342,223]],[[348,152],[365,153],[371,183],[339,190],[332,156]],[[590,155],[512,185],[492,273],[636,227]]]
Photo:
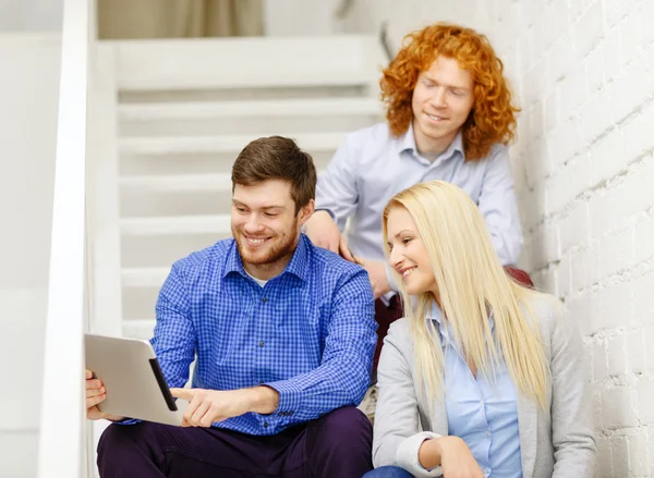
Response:
[[[263,280],[279,275],[291,260],[313,208],[312,199],[295,215],[291,186],[281,180],[237,184],[231,231],[245,270]]]

